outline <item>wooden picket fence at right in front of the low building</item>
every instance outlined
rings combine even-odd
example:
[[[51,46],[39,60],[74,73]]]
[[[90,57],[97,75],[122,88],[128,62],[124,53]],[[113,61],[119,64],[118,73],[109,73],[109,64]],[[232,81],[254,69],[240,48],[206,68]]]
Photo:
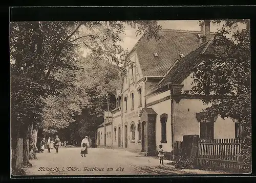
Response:
[[[199,139],[197,166],[240,172],[241,139]]]

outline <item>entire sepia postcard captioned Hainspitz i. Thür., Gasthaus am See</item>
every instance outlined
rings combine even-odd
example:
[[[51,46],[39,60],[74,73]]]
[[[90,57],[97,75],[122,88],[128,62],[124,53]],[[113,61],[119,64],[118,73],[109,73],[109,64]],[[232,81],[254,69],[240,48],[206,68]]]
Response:
[[[251,173],[250,20],[10,22],[11,175]]]

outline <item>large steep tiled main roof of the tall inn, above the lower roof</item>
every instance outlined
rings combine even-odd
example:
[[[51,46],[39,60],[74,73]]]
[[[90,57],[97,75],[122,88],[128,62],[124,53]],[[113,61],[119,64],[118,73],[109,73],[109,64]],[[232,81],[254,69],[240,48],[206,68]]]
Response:
[[[163,29],[159,34],[162,37],[158,41],[142,36],[135,45],[144,76],[164,76],[180,59],[180,54],[186,56],[199,47],[200,32]],[[214,34],[210,37],[213,38]],[[158,57],[154,56],[155,52]]]

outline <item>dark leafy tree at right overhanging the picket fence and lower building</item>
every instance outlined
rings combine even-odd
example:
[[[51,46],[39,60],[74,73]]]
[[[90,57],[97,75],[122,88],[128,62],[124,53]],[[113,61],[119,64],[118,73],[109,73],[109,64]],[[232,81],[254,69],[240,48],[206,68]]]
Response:
[[[218,30],[212,53],[194,69],[191,92],[208,97],[208,116],[230,117],[243,126],[242,161],[251,164],[251,83],[249,20],[212,20]],[[216,97],[211,97],[212,95]]]

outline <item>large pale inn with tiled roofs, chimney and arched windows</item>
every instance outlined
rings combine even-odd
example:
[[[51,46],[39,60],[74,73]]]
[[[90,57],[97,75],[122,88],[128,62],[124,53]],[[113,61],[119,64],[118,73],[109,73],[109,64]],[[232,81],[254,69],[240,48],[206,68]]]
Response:
[[[193,66],[215,51],[209,21],[201,24],[200,32],[161,30],[159,34],[158,41],[142,36],[127,56],[116,109],[104,118],[111,118],[111,123],[99,126],[97,145],[150,155],[160,144],[165,152],[172,152],[175,141],[182,141],[184,135],[239,137],[237,123],[219,116],[204,118],[203,96],[186,92],[193,86]]]

